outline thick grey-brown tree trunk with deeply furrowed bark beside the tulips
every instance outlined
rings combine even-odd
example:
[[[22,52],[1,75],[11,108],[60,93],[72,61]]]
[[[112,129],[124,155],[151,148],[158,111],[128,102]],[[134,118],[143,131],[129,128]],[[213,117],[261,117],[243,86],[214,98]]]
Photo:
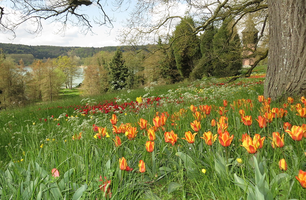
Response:
[[[270,39],[264,95],[272,100],[306,89],[305,0],[268,0]]]

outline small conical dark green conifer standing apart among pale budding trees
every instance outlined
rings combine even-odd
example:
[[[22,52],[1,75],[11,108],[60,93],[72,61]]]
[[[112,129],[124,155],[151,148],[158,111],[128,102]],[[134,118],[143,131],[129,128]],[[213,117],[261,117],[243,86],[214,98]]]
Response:
[[[120,48],[117,48],[109,66],[110,85],[114,90],[120,90],[127,86],[127,77],[129,76],[129,69],[125,65]]]

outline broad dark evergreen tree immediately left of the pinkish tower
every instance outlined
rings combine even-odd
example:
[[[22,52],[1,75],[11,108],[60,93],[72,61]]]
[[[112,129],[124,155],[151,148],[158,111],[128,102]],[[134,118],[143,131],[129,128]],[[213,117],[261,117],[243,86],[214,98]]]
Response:
[[[242,67],[241,41],[231,21],[224,20],[212,40],[213,53],[212,75],[226,77],[238,75]]]

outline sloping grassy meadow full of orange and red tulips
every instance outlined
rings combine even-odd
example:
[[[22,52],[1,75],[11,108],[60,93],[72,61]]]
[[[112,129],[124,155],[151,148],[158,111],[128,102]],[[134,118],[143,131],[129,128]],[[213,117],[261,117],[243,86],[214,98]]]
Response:
[[[0,198],[306,199],[306,99],[264,77],[2,110]]]

